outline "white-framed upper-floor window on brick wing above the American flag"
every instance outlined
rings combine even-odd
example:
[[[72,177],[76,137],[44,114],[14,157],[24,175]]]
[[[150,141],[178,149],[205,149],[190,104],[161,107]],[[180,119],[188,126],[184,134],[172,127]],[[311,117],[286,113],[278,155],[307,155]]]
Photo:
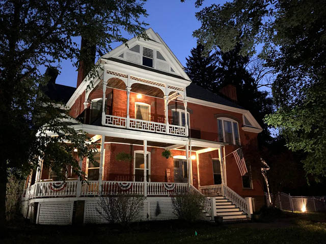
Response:
[[[232,119],[218,119],[218,135],[220,142],[240,145],[238,123]]]

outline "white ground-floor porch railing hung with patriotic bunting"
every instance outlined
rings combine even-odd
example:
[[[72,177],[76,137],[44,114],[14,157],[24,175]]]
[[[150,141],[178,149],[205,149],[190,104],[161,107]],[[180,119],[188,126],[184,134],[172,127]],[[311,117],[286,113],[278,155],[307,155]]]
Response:
[[[79,183],[80,184],[80,183]],[[78,197],[116,195],[119,193],[147,196],[170,196],[188,191],[187,183],[142,182],[142,181],[102,181],[89,180],[80,185],[77,180],[37,182],[25,190],[23,200],[44,197]]]

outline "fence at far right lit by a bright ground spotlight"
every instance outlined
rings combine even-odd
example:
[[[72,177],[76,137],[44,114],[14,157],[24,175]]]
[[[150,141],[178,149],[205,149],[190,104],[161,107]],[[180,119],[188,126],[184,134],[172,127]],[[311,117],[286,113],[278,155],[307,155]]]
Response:
[[[291,196],[290,194],[279,193],[275,199],[270,196],[269,203],[267,193],[265,193],[267,206],[272,205],[275,200],[275,205],[281,210],[288,211],[326,211],[326,196],[307,197],[307,196]]]

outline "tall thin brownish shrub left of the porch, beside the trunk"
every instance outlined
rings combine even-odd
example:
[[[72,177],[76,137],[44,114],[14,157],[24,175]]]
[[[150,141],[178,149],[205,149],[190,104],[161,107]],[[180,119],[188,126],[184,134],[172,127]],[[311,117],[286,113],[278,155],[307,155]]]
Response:
[[[6,218],[7,221],[14,220],[20,215],[20,199],[23,191],[23,180],[14,174],[8,175],[7,194],[6,194]]]

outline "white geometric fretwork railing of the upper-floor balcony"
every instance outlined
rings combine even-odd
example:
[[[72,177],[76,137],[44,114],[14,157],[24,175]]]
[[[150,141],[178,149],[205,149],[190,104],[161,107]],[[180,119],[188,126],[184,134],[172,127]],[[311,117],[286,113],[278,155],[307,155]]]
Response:
[[[127,118],[107,114],[105,115],[104,125],[176,136],[187,136],[186,128],[184,126],[167,125],[164,123],[135,118],[129,118],[128,123]]]

